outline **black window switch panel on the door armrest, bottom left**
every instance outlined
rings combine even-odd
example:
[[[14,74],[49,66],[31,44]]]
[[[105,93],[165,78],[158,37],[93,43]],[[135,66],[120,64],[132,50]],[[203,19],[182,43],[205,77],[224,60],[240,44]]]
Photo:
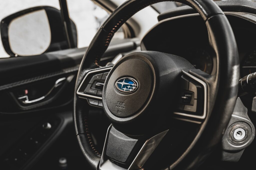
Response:
[[[46,123],[51,128],[45,128]],[[44,148],[44,144],[52,137],[60,123],[59,118],[51,117],[33,127],[27,135],[20,138],[18,143],[1,156],[0,169],[21,169],[39,149]]]

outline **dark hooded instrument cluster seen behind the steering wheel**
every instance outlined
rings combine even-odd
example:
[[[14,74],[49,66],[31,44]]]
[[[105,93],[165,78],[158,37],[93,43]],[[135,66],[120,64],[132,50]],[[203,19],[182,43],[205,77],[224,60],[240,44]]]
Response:
[[[240,58],[240,77],[256,72],[256,16],[225,13],[233,29]],[[142,50],[174,54],[208,74],[216,72],[216,54],[209,44],[205,22],[198,14],[161,20],[142,39]]]

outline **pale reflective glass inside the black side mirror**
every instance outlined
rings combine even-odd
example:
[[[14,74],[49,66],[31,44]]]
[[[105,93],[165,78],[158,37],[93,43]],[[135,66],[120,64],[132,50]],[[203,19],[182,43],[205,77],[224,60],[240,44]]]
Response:
[[[13,19],[9,24],[8,37],[15,55],[44,53],[51,43],[51,29],[46,11],[41,9]]]

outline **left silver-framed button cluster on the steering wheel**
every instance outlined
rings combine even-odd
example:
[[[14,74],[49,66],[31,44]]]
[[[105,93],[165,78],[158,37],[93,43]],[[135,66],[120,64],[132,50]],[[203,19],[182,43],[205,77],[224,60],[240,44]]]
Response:
[[[110,69],[111,67],[89,72],[77,90],[79,97],[87,99],[91,106],[102,107],[102,90]]]

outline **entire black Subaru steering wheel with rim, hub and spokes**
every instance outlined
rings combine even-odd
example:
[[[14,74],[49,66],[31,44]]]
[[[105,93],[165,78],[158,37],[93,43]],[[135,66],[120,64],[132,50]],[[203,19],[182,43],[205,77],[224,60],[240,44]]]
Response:
[[[74,123],[81,150],[93,169],[140,169],[150,157],[164,154],[164,150],[154,151],[162,145],[168,148],[163,140],[175,133],[168,125],[172,115],[199,123],[199,128],[193,141],[175,161],[168,162],[168,167],[197,167],[218,146],[230,120],[238,91],[238,50],[226,16],[212,0],[177,2],[196,9],[205,21],[217,60],[215,75],[195,69],[182,57],[156,51],[128,54],[112,68],[99,66],[114,33],[136,12],[158,2],[163,0],[124,2],[100,27],[82,59],[74,95]],[[88,125],[90,107],[82,99],[84,89],[81,92],[79,88],[87,86],[84,83],[92,73],[106,70],[110,71],[102,103],[111,125],[99,153]],[[86,96],[90,100],[93,95]]]

